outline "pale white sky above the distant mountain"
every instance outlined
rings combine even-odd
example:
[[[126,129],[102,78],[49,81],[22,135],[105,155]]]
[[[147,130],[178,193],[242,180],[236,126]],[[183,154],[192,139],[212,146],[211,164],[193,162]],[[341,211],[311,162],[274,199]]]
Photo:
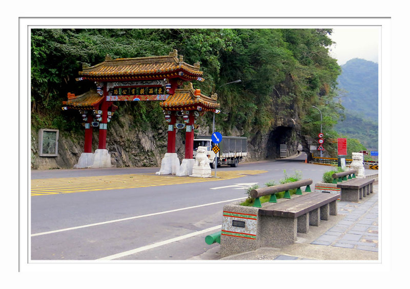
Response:
[[[379,33],[378,27],[335,27],[330,37],[336,44],[331,46],[330,55],[337,59],[338,65],[353,58],[379,63]]]

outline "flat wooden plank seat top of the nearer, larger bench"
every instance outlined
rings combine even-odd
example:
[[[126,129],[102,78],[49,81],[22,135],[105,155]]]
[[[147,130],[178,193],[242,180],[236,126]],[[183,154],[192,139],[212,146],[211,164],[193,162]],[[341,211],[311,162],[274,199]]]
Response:
[[[325,205],[326,203],[335,201],[339,197],[340,194],[308,193],[261,208],[259,209],[259,214],[262,216],[297,218],[322,207],[322,205]]]

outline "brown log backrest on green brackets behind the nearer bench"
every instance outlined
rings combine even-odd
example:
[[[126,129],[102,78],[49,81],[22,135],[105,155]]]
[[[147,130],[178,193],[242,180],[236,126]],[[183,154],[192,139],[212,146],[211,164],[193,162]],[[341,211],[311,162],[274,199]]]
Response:
[[[272,185],[271,187],[264,187],[264,188],[252,190],[250,195],[251,195],[251,198],[255,199],[253,207],[262,208],[262,204],[260,203],[259,198],[263,196],[271,195],[269,202],[277,203],[275,194],[279,192],[285,192],[285,194],[283,195],[284,199],[291,198],[291,194],[289,193],[289,190],[292,190],[292,189],[296,189],[295,195],[302,195],[302,190],[300,188],[304,186],[306,186],[305,192],[312,192],[311,187],[310,187],[312,182],[313,182],[312,179],[304,179],[304,180],[294,181],[290,183],[277,184],[277,185]]]

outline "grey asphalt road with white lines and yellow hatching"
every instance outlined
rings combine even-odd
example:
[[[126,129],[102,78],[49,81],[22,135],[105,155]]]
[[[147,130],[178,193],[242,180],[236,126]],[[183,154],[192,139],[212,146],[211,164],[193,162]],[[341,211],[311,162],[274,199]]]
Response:
[[[330,166],[293,159],[217,168],[218,178],[158,176],[158,168],[33,171],[31,260],[186,260],[211,249],[222,208],[257,183]],[[212,175],[214,171],[212,170]]]

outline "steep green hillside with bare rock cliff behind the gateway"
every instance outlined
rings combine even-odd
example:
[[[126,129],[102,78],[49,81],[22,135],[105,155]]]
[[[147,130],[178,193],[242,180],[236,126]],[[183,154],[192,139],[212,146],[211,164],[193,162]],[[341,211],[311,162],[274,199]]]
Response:
[[[81,153],[81,117],[61,111],[61,103],[68,92],[77,95],[95,86],[75,81],[83,65],[101,63],[106,55],[168,55],[173,49],[186,63],[199,61],[205,80],[193,84],[203,94],[218,94],[216,130],[247,136],[253,159],[278,157],[280,143],[295,153],[301,142],[309,153],[309,143],[320,131],[320,115],[312,106],[323,114],[325,139],[337,138],[333,126],[343,114],[334,101],[340,67],[328,55],[330,33],[331,29],[33,29],[32,168],[72,168]],[[237,79],[241,82],[224,85]],[[159,104],[116,105],[119,109],[107,131],[113,166],[158,166],[166,152],[166,122]],[[212,113],[200,121],[197,133],[210,133]],[[60,130],[60,156],[54,163],[38,157],[40,128]],[[179,133],[177,146],[182,140]],[[324,147],[335,155],[334,143],[325,142]]]

